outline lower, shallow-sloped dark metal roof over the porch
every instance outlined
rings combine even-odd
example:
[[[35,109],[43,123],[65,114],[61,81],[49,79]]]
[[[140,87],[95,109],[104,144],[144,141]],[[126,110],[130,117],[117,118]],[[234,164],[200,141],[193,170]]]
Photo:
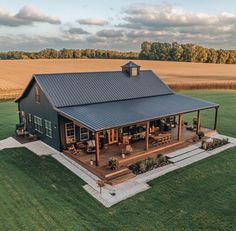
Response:
[[[171,94],[76,107],[64,107],[59,108],[58,111],[62,115],[74,119],[94,131],[99,131],[217,106],[217,104],[207,101],[179,94]]]

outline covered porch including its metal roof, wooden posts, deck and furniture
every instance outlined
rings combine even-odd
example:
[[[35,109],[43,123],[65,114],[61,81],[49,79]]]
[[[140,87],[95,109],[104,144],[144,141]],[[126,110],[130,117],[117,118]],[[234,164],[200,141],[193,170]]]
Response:
[[[195,142],[199,132],[216,130],[218,105],[181,95],[165,95],[117,102],[61,108],[60,117],[73,123],[71,142],[76,152],[64,153],[99,176],[112,172],[111,157],[127,167],[148,156],[167,153]],[[201,127],[201,111],[215,109],[213,128]],[[191,124],[183,115],[195,113]],[[65,121],[61,120],[61,139],[65,143]],[[76,127],[87,135],[76,137]],[[73,129],[72,129],[73,128]],[[64,135],[63,135],[64,132]],[[82,141],[86,135],[87,139]],[[88,148],[89,146],[89,148]]]

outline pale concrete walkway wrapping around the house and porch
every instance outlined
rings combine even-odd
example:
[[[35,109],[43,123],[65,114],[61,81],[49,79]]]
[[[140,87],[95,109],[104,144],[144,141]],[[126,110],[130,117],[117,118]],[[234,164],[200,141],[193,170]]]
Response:
[[[115,186],[105,185],[101,192],[100,188],[97,186],[97,181],[99,180],[97,176],[89,172],[77,162],[65,156],[63,153],[58,152],[41,141],[20,144],[14,138],[9,137],[0,141],[0,150],[4,148],[26,147],[39,156],[51,155],[55,160],[60,162],[86,183],[83,188],[89,194],[100,201],[104,206],[111,207],[112,205],[132,197],[137,193],[148,190],[150,188],[148,182],[153,179],[236,146],[235,138],[226,137],[219,134],[216,134],[213,137],[229,138],[230,143],[212,151],[203,151],[200,149],[200,142],[186,148],[179,149],[168,154],[168,156],[174,160],[172,164],[168,164],[166,166],[140,174],[124,183]]]

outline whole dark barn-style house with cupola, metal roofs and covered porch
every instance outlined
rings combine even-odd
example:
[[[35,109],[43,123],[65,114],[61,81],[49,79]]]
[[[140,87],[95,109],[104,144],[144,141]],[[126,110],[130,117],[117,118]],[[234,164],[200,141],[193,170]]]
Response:
[[[18,103],[19,129],[64,152],[97,175],[111,157],[121,166],[178,148],[216,130],[219,105],[172,91],[151,70],[128,62],[120,71],[35,74]],[[212,129],[200,112],[215,109]],[[183,121],[196,113],[192,124]]]

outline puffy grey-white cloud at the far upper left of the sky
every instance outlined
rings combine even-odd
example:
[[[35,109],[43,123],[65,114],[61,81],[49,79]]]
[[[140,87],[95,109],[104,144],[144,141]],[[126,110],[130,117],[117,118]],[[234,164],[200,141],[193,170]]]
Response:
[[[23,6],[16,14],[11,14],[7,10],[0,9],[0,26],[19,27],[32,25],[36,22],[50,24],[61,23],[58,17],[47,16],[31,6]]]

